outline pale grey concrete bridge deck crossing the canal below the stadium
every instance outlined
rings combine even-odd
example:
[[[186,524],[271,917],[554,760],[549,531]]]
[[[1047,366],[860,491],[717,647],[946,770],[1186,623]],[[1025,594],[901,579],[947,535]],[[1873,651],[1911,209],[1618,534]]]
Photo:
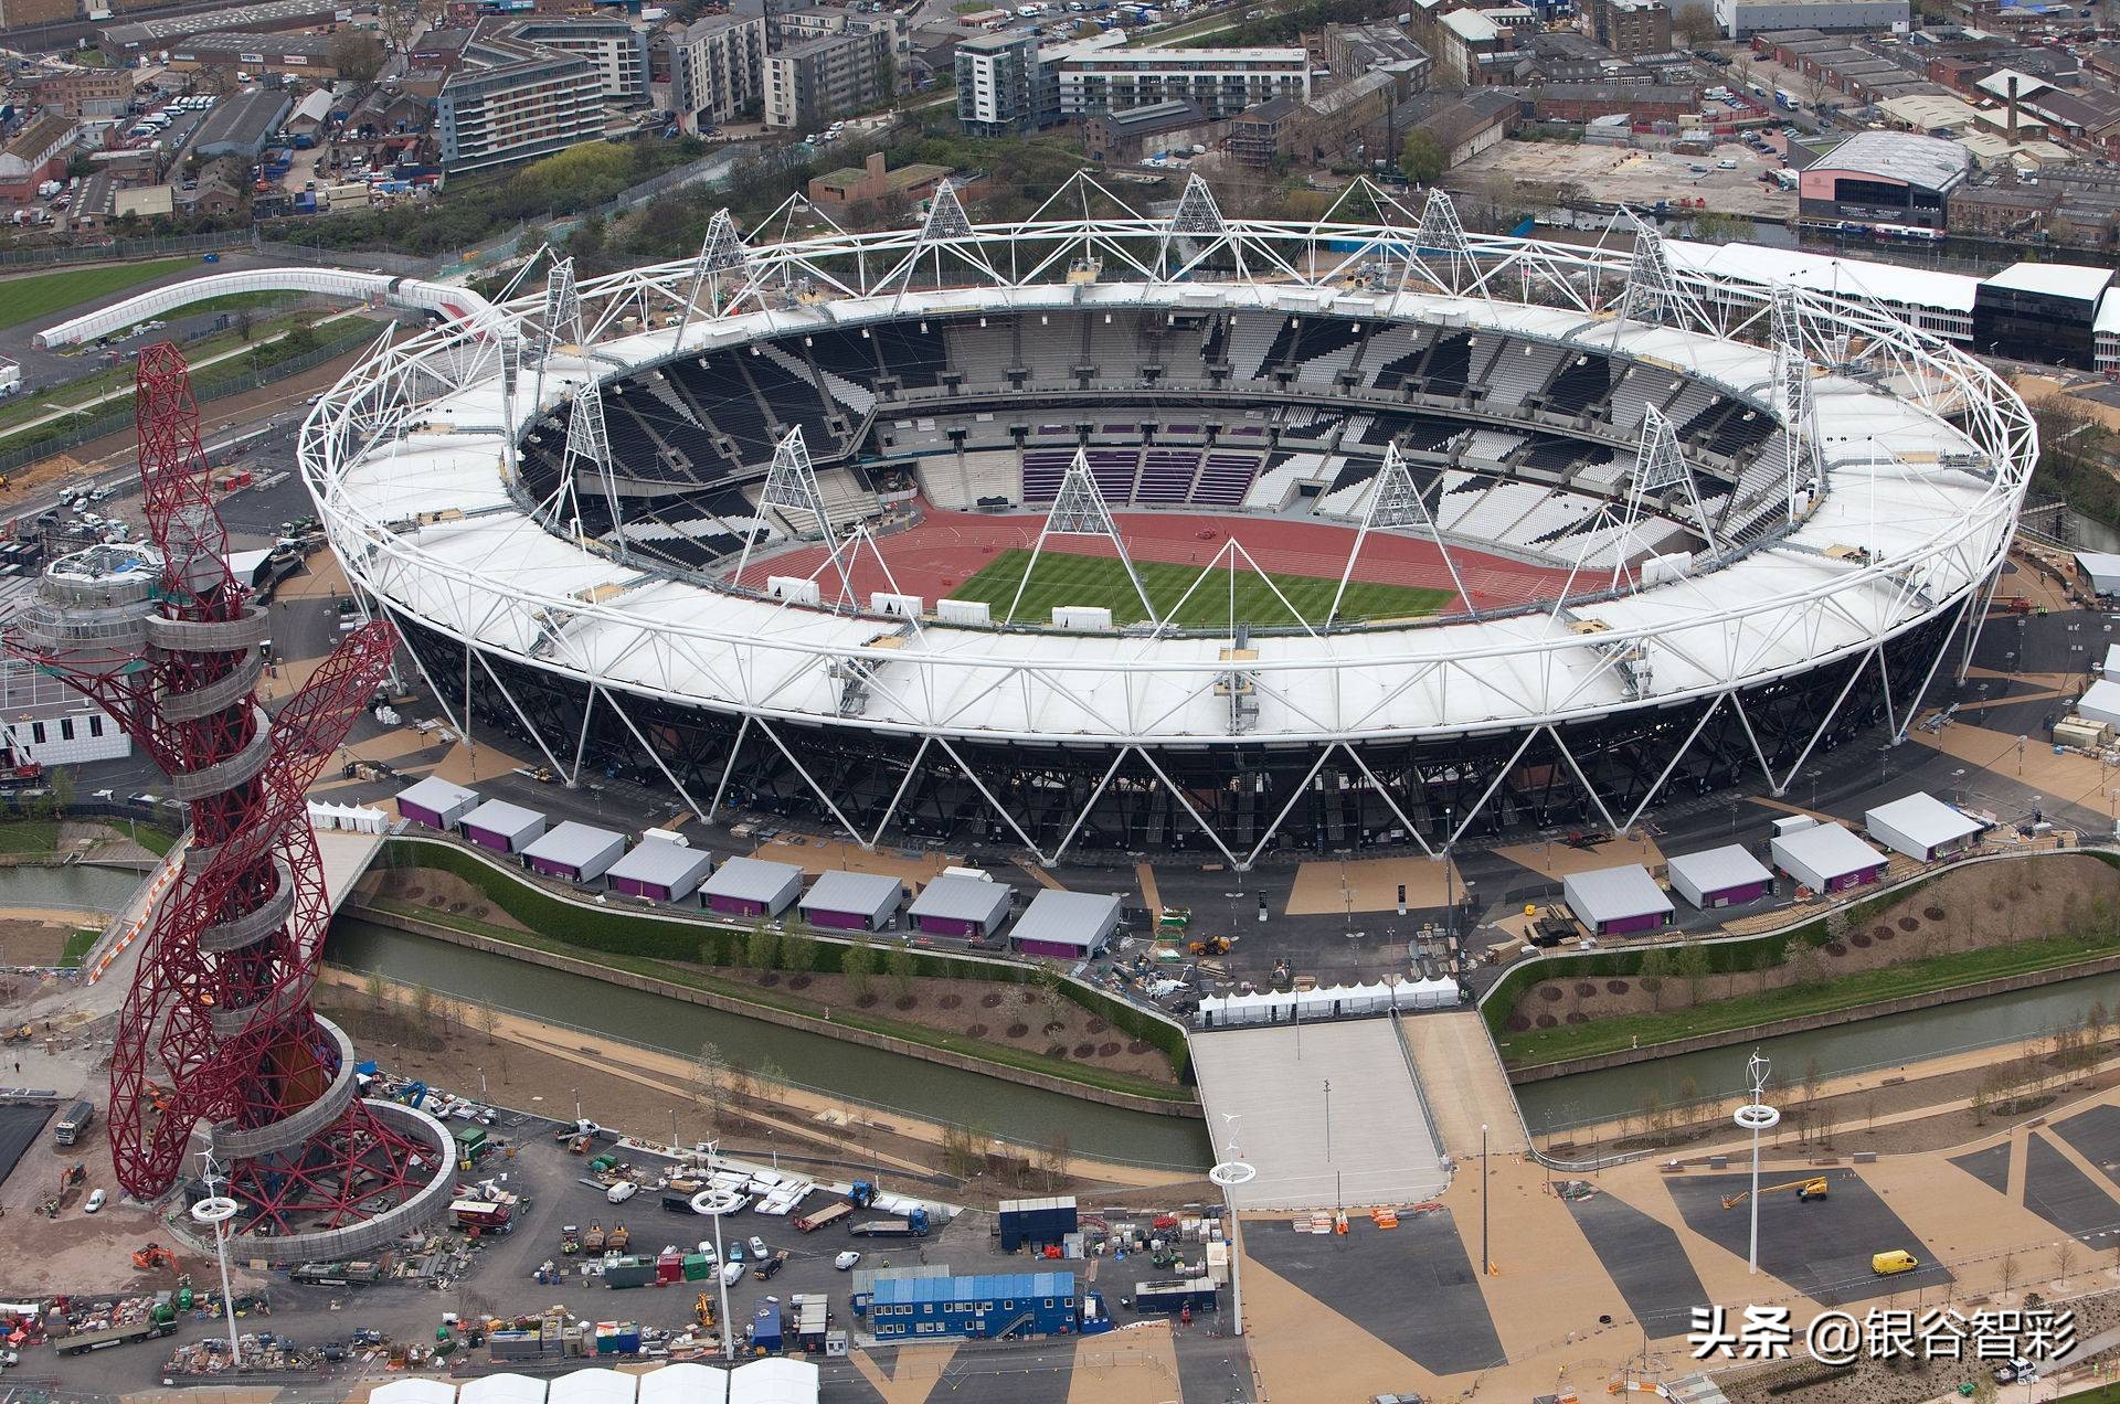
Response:
[[[1217,1156],[1234,1145],[1257,1169],[1238,1209],[1412,1205],[1450,1181],[1391,1020],[1219,1029],[1191,1048]]]

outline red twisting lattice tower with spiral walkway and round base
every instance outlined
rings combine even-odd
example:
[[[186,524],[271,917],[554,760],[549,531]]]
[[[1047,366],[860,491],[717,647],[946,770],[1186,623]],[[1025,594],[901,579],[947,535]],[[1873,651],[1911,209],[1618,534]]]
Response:
[[[267,1234],[276,1258],[363,1251],[430,1211],[456,1169],[439,1122],[356,1096],[352,1043],[310,1005],[331,903],[305,791],[396,638],[382,621],[356,630],[269,717],[271,619],[229,571],[176,346],[140,352],[134,420],[155,549],[53,562],[6,634],[108,710],[191,817],[114,1035],[117,1179],[161,1196],[204,1133],[237,1232]]]

